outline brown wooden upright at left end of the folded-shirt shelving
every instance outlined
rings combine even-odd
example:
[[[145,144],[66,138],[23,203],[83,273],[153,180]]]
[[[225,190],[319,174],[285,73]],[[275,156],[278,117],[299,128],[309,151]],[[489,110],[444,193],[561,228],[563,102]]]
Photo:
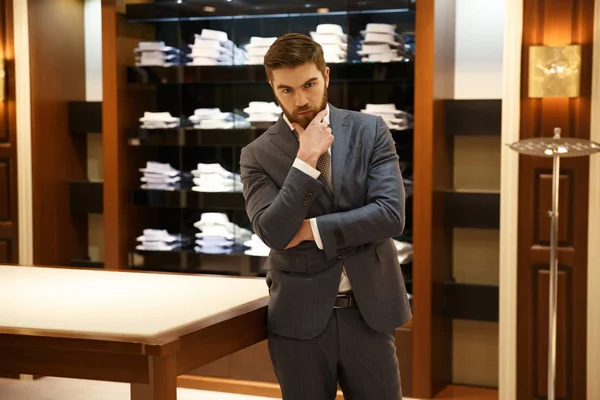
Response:
[[[149,95],[151,88],[128,85],[126,74],[134,64],[133,49],[142,40],[153,40],[154,30],[150,24],[128,24],[117,13],[122,5],[102,0],[104,265],[109,269],[128,267],[128,251],[148,227],[142,224],[150,224],[152,212],[129,204],[129,189],[139,186],[136,165],[142,161],[126,138],[144,111],[154,108],[155,96]]]

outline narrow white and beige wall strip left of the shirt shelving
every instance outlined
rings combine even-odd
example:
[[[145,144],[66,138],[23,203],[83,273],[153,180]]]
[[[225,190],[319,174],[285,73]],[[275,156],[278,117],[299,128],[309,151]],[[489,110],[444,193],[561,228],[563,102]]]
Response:
[[[85,97],[102,101],[102,4],[85,0]],[[87,179],[102,181],[102,135],[87,135]],[[102,214],[88,214],[88,254],[92,261],[104,261]]]

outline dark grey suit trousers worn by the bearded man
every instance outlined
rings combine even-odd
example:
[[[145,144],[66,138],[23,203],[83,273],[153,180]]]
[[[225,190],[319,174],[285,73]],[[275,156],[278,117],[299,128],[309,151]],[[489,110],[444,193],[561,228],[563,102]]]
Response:
[[[401,400],[394,331],[369,327],[358,307],[333,309],[312,339],[269,333],[269,353],[283,400]]]

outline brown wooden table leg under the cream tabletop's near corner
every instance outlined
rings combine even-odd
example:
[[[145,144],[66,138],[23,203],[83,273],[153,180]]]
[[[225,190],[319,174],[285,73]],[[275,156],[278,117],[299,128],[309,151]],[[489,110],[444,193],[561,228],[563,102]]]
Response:
[[[131,400],[177,400],[174,356],[148,357],[148,376],[148,384],[131,384]]]

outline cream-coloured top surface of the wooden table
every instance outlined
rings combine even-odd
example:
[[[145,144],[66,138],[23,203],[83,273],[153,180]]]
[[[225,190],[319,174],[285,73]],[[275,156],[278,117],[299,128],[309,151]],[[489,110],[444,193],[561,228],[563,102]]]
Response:
[[[264,278],[0,265],[0,334],[123,340],[265,307]]]

